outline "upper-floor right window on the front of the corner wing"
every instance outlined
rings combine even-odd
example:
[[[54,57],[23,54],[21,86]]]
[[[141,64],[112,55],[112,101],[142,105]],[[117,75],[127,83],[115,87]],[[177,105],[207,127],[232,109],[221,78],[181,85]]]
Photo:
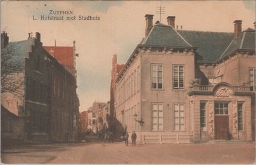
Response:
[[[184,66],[173,66],[173,89],[184,89]]]

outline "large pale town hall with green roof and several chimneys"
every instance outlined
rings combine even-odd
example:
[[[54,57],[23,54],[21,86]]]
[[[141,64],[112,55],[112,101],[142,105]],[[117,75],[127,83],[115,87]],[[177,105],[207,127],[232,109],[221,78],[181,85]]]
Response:
[[[184,31],[175,17],[145,17],[145,38],[112,75],[122,129],[143,143],[255,141],[255,29]]]

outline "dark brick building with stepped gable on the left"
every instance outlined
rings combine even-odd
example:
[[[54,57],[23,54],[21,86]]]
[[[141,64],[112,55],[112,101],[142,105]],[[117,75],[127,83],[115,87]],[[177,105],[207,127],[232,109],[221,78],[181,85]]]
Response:
[[[22,97],[12,101],[14,106],[4,99],[1,104],[23,115],[24,141],[75,141],[79,115],[76,78],[45,51],[40,38],[36,32],[35,38],[29,35],[6,45],[15,50],[15,60],[22,64],[22,73],[17,75],[23,79]]]

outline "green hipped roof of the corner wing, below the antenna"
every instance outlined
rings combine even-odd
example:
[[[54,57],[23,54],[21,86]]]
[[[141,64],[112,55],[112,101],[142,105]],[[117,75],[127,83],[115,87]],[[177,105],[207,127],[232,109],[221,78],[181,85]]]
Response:
[[[150,46],[191,47],[173,27],[164,24],[154,25],[147,38],[141,41],[141,44]]]

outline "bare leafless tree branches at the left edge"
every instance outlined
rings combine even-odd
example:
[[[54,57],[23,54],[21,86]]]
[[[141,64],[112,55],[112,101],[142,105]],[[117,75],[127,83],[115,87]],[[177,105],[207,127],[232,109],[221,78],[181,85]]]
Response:
[[[7,45],[1,48],[1,95],[13,94],[22,97],[22,58],[19,58],[18,48],[15,45]]]

